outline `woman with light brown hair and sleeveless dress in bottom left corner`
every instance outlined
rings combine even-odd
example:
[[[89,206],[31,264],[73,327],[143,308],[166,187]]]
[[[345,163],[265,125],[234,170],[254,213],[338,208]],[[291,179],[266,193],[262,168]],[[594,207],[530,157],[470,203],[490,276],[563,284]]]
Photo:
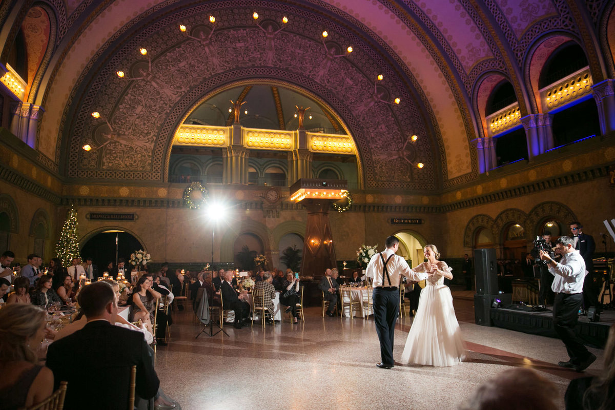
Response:
[[[30,280],[24,278],[30,285]],[[29,304],[0,310],[0,407],[18,409],[41,403],[54,391],[54,374],[39,366],[45,312]],[[58,380],[60,385],[60,380]]]

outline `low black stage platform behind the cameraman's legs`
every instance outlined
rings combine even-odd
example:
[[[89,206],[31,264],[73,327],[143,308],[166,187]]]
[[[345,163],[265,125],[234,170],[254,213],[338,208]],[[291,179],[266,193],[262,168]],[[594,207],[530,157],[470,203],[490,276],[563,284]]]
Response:
[[[491,308],[490,317],[493,325],[498,328],[557,338],[553,328],[553,313],[526,311],[530,309],[528,306]],[[547,309],[552,309],[552,306],[547,306]],[[576,331],[586,345],[604,349],[609,327],[613,323],[615,323],[615,310],[604,310],[600,315],[600,321],[592,322],[585,316],[579,316]]]

